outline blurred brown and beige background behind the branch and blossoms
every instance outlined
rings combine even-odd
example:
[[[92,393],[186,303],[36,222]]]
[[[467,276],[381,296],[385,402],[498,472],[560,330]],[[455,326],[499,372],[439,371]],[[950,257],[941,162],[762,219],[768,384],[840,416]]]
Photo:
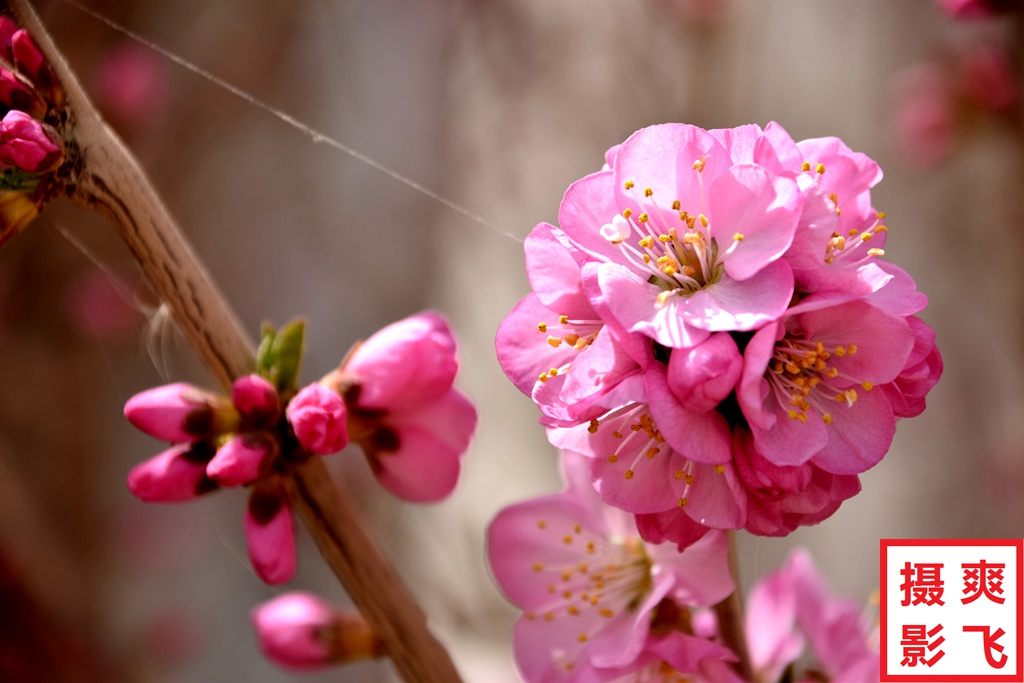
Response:
[[[1024,535],[1020,19],[933,0],[82,0],[482,216],[285,125],[67,0],[37,7],[255,336],[306,316],[304,380],[423,308],[461,342],[480,428],[442,504],[329,459],[467,681],[515,681],[516,615],[483,561],[503,506],[560,487],[494,354],[528,291],[521,239],[606,147],[653,123],[775,120],[886,172],[887,257],[931,298],[945,375],[863,493],[786,539],[740,533],[745,586],[807,546],[838,593],[878,586],[880,538]],[[946,3],[955,4],[955,3]],[[964,3],[959,3],[964,4]],[[972,4],[972,3],[967,3]],[[983,2],[973,4],[983,5]],[[1007,3],[999,3],[1007,4]],[[986,13],[986,12],[981,12]],[[213,386],[95,215],[48,206],[0,251],[0,661],[33,681],[388,681],[292,675],[258,653],[272,597],[245,561],[244,493],[143,505],[159,444],[122,418],[165,381]],[[347,598],[300,532],[293,588]],[[13,667],[13,668],[10,668]],[[22,667],[22,669],[18,669]]]

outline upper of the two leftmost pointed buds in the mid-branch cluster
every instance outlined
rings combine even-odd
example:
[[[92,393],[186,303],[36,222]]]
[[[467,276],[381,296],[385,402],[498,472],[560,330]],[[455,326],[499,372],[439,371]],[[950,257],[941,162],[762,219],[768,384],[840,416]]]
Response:
[[[239,423],[226,398],[183,382],[135,394],[125,403],[125,417],[136,429],[170,443],[225,434]]]

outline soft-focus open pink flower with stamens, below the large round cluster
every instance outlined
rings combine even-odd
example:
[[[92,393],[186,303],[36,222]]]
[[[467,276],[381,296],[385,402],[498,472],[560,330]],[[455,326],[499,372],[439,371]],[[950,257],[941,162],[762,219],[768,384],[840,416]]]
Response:
[[[732,592],[725,536],[711,531],[683,553],[645,546],[631,515],[595,496],[586,460],[565,454],[563,465],[563,494],[506,508],[487,532],[495,578],[525,612],[513,643],[523,678],[608,680],[654,658],[692,671],[706,656],[726,656],[710,641],[675,633],[667,643],[652,630],[671,623],[669,611]]]

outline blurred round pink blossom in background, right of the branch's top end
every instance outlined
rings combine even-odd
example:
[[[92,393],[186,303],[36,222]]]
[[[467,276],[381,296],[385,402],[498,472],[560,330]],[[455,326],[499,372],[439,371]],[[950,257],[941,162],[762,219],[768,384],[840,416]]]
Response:
[[[163,58],[130,40],[118,43],[100,59],[95,87],[99,105],[115,121],[136,127],[159,120],[170,100]]]

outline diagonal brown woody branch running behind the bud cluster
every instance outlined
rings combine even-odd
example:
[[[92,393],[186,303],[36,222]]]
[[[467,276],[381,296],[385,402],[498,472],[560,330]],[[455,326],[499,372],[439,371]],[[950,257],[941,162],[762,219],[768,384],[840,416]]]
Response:
[[[28,0],[10,0],[20,25],[42,48],[67,94],[73,119],[66,142],[76,164],[71,198],[102,213],[225,389],[252,372],[253,347],[238,317],[171,218],[131,153],[103,123]],[[328,564],[384,642],[407,681],[459,681],[426,617],[340,494],[319,458],[297,466],[288,482],[292,505]]]

